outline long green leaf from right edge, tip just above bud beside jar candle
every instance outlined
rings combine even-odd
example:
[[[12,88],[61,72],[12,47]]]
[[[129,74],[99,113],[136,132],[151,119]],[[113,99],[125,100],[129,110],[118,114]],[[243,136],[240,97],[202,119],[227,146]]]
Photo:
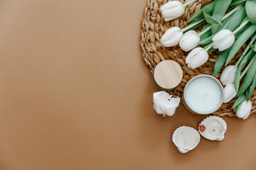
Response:
[[[253,24],[247,30],[245,30],[237,40],[235,40],[235,43],[232,46],[232,49],[230,50],[230,53],[228,54],[228,59],[225,62],[225,65],[228,65],[228,63],[233,59],[235,54],[238,52],[240,47],[245,44],[245,42],[250,38],[250,36],[255,33],[256,25]]]

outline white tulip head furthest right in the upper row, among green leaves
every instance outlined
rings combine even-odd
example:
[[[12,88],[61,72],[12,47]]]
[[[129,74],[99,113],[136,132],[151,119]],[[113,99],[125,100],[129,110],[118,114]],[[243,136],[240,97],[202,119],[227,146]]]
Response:
[[[228,49],[235,42],[235,35],[231,30],[220,30],[213,37],[213,48],[218,48],[219,51]]]

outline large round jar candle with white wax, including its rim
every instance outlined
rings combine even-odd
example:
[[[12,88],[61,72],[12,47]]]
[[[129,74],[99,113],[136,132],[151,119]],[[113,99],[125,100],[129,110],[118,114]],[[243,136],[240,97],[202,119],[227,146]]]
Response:
[[[192,113],[206,115],[213,113],[223,103],[223,86],[215,77],[202,74],[193,77],[183,91],[184,106]]]

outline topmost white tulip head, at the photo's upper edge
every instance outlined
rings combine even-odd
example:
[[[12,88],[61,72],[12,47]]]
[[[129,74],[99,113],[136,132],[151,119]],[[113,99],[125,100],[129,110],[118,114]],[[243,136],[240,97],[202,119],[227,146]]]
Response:
[[[161,6],[161,13],[164,21],[171,21],[183,15],[184,7],[180,1],[169,1]]]

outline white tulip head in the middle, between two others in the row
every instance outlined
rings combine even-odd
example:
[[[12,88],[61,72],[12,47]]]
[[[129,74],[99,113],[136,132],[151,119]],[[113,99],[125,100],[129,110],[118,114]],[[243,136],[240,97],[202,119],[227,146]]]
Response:
[[[198,33],[195,30],[189,30],[183,35],[181,41],[179,42],[179,45],[183,51],[187,52],[196,47],[199,42],[200,36],[198,35]]]

